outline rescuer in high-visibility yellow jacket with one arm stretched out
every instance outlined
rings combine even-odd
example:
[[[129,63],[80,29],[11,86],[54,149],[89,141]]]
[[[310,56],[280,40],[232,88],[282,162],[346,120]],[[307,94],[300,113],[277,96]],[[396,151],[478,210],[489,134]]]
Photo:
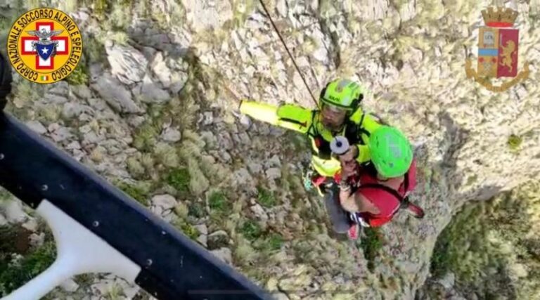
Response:
[[[309,110],[293,104],[269,105],[243,100],[240,112],[285,129],[307,134],[311,142],[311,167],[323,178],[331,178],[340,170],[340,161],[333,157],[330,141],[335,136],[347,137],[347,155],[359,163],[368,162],[370,132],[381,124],[361,110],[364,89],[354,81],[330,81],[319,96],[319,109]],[[316,184],[317,185],[317,184]]]

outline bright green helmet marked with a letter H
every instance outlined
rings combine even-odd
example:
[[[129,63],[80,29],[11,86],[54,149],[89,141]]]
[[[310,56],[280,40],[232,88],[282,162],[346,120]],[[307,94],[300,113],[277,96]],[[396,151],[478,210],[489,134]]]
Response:
[[[388,178],[405,174],[413,162],[411,143],[401,131],[380,126],[369,136],[371,161],[377,171]]]

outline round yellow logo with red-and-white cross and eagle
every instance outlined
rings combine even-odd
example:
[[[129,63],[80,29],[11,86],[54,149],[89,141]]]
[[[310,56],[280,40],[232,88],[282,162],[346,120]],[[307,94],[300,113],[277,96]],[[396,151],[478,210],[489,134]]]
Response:
[[[54,8],[36,8],[13,23],[7,50],[21,76],[51,84],[68,77],[79,64],[82,37],[69,15]]]

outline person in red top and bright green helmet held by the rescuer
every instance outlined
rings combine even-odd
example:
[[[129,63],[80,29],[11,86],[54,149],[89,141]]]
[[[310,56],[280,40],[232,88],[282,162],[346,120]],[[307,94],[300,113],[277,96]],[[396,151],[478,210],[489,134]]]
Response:
[[[368,144],[371,162],[359,164],[349,153],[340,156],[342,169],[335,175],[340,185],[340,204],[349,213],[349,237],[356,239],[359,224],[383,226],[399,209],[416,218],[423,210],[410,203],[408,195],[416,187],[416,161],[409,140],[398,129],[381,126]]]

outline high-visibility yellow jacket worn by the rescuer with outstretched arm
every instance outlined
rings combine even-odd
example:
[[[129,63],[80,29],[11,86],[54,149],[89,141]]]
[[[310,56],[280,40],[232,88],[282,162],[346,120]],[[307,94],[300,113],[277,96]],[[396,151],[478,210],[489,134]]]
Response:
[[[335,136],[345,136],[351,145],[356,145],[359,155],[358,162],[368,162],[371,159],[367,143],[369,135],[380,123],[375,117],[364,113],[360,108],[356,110],[345,122],[339,133],[333,134],[321,123],[319,110],[308,110],[293,104],[270,105],[255,101],[243,100],[240,103],[240,112],[245,115],[285,129],[307,134],[311,141],[311,165],[322,176],[334,176],[340,169],[340,162],[333,158],[330,142]]]

